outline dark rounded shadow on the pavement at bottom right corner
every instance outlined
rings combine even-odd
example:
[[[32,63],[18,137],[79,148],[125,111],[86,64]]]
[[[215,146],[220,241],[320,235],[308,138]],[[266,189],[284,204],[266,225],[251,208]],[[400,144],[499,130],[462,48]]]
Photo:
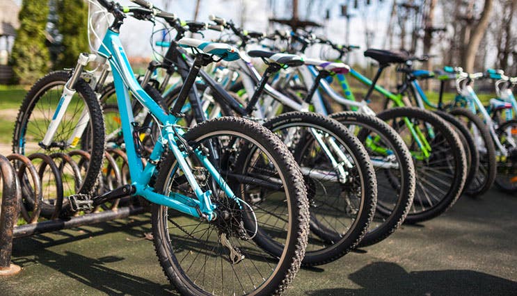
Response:
[[[517,282],[473,270],[406,272],[375,262],[349,274],[363,288],[309,290],[307,295],[516,295]]]

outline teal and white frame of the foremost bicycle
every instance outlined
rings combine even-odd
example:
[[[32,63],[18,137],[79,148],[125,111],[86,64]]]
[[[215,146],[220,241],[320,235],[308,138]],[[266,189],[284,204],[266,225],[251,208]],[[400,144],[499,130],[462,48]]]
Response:
[[[134,194],[145,197],[145,199],[148,199],[150,202],[155,204],[174,208],[177,211],[193,217],[205,217],[207,220],[213,220],[215,218],[214,210],[216,206],[212,204],[209,199],[212,192],[211,190],[207,190],[206,192],[202,191],[196,181],[196,177],[193,175],[189,165],[186,163],[185,158],[188,154],[182,151],[177,145],[176,141],[182,134],[184,134],[182,127],[177,125],[179,118],[166,113],[138,83],[120,42],[119,33],[109,29],[104,36],[104,40],[98,50],[98,54],[102,59],[104,59],[104,61],[109,61],[111,69],[113,70],[113,81],[116,89],[122,133],[125,140],[129,163],[129,174],[133,181],[132,186],[135,189]],[[79,75],[77,72],[74,74]],[[145,167],[142,165],[142,161],[138,151],[136,150],[133,138],[134,114],[132,111],[129,92],[134,95],[138,102],[141,103],[162,126],[161,135],[152,149],[149,161]],[[57,124],[63,119],[63,115],[65,113],[64,110],[66,109],[66,106],[63,106],[63,102],[65,102],[67,96],[70,95],[69,93],[70,91],[67,92],[67,88],[65,88],[64,94],[61,97],[58,108],[54,114],[53,121],[55,120]],[[49,134],[49,138],[52,138],[52,131],[47,132],[47,134]],[[154,189],[149,186],[151,176],[157,172],[157,163],[159,162],[161,155],[164,153],[164,145],[168,145],[170,151],[174,154],[177,160],[175,170],[180,169],[184,172],[189,185],[193,188],[193,192],[195,193],[197,200],[175,192],[170,193],[169,196],[161,195],[154,192]],[[200,163],[202,163],[202,165],[207,169],[209,174],[213,176],[214,180],[225,194],[228,195],[228,197],[237,200],[237,197],[235,197],[230,186],[228,186],[228,184],[223,180],[207,156],[202,154],[198,149],[194,151],[194,154]],[[238,200],[237,203],[239,203]]]

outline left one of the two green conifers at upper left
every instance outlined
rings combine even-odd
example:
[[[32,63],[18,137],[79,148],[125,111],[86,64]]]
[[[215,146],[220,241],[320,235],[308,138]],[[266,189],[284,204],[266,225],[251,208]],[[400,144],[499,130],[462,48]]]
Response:
[[[45,45],[47,0],[23,0],[19,29],[13,45],[12,65],[18,83],[31,84],[49,70],[49,50]]]

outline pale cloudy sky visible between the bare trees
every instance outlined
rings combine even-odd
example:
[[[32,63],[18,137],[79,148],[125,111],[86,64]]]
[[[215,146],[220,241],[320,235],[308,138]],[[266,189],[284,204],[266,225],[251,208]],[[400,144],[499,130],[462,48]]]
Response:
[[[331,10],[331,19],[324,22],[324,13],[326,9],[321,9],[320,6],[315,5],[312,8],[310,19],[316,22],[324,22],[325,26],[319,29],[317,33],[324,34],[331,40],[344,44],[345,42],[345,19],[340,16],[340,5],[346,0],[342,1],[316,1],[316,3],[325,3],[326,8]],[[290,17],[290,8],[280,7],[280,2],[277,1],[276,11],[279,17]],[[305,17],[307,6],[306,0],[300,0],[300,15]],[[365,28],[376,32],[376,39],[372,47],[382,47],[385,35],[385,26],[388,24],[388,17],[390,13],[390,1],[383,1],[383,3],[376,3],[370,6],[365,13],[356,11],[356,17],[351,19],[351,35],[350,43],[358,44],[362,49],[365,49]],[[128,0],[121,0],[120,3],[130,5]],[[159,8],[166,8],[169,12],[175,13],[180,19],[193,19],[195,1],[192,0],[153,0],[155,6]],[[242,13],[242,3],[246,3],[246,10]],[[217,15],[225,19],[234,19],[237,24],[240,23],[241,15],[244,15],[244,28],[253,31],[267,31],[268,19],[273,16],[269,9],[269,1],[265,0],[201,0],[199,21],[209,21],[209,15]],[[120,30],[120,38],[125,45],[125,49],[129,56],[151,56],[152,49],[150,47],[149,37],[152,33],[152,24],[150,22],[138,21],[136,19],[128,18],[124,26]],[[217,33],[212,34],[215,37]],[[210,38],[207,34],[205,37]],[[199,38],[200,36],[198,36]],[[135,41],[141,40],[141,41]],[[360,58],[362,54],[357,52],[353,55],[353,59]]]

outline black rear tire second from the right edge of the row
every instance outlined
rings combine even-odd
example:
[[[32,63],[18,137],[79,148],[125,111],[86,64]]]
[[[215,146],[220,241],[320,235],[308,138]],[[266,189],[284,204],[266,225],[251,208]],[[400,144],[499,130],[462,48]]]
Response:
[[[469,186],[466,187],[465,193],[472,197],[483,195],[492,187],[495,181],[495,174],[497,174],[495,145],[488,126],[486,126],[480,117],[466,108],[453,108],[450,110],[450,114],[466,124],[471,133],[473,132],[473,126],[479,131],[479,137],[474,138],[475,147],[477,147],[479,151],[479,169],[477,170],[475,178],[473,178]]]

